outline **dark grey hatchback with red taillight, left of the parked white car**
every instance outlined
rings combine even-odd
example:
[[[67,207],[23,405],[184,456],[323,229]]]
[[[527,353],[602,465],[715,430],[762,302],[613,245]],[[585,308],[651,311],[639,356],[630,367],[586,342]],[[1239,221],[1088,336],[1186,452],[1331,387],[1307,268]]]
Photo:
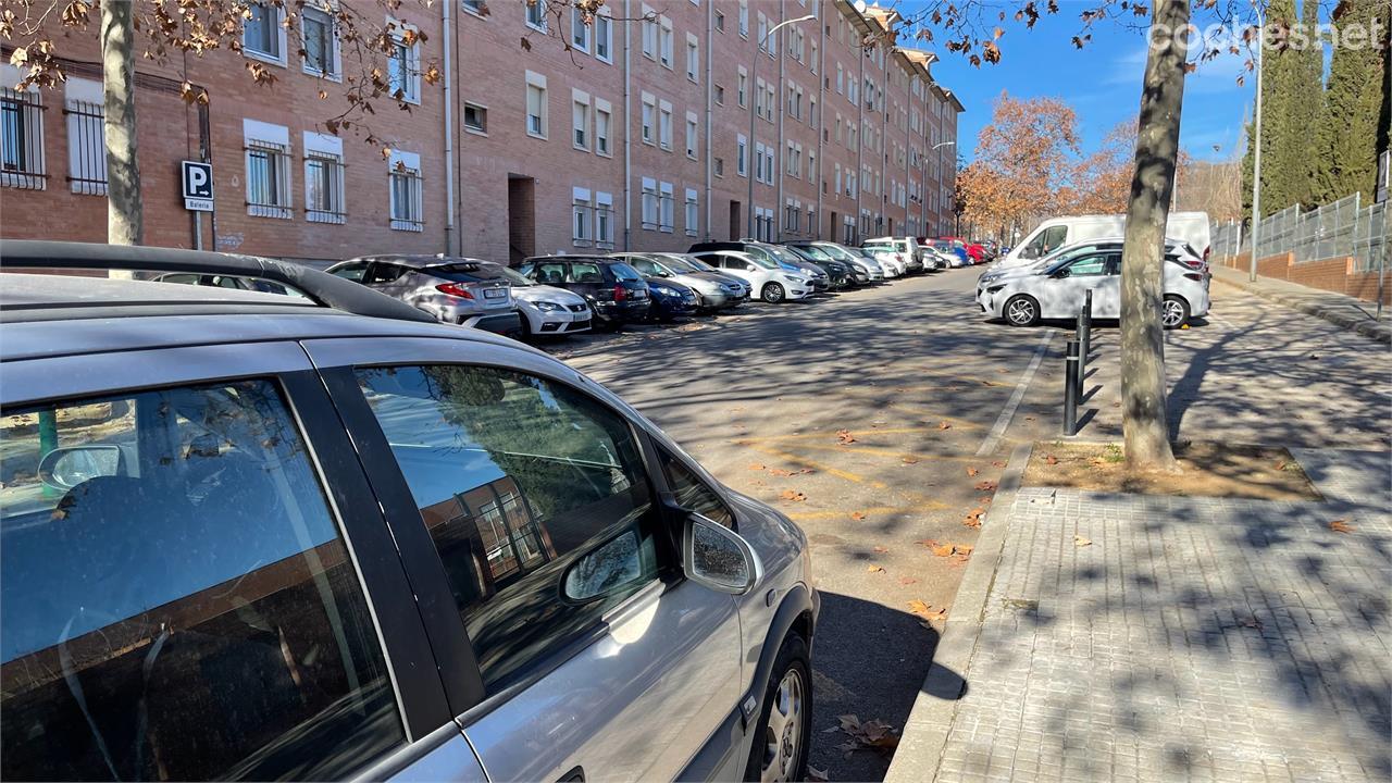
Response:
[[[486,261],[441,255],[374,255],[335,263],[330,274],[362,283],[445,323],[500,334],[522,330],[512,283]]]

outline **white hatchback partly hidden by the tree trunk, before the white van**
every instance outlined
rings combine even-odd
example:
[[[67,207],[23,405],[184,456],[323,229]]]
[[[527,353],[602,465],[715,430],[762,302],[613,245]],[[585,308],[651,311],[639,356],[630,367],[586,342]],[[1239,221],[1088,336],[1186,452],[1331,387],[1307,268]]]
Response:
[[[1166,254],[1164,269],[1164,304],[1161,323],[1179,329],[1193,316],[1208,312],[1208,281],[1203,272],[1180,263]],[[1012,326],[1033,326],[1040,319],[1077,318],[1089,290],[1093,291],[1093,318],[1121,318],[1121,247],[1073,254],[1043,269],[1025,274],[1005,274],[980,286],[976,301],[981,312],[1004,318]]]

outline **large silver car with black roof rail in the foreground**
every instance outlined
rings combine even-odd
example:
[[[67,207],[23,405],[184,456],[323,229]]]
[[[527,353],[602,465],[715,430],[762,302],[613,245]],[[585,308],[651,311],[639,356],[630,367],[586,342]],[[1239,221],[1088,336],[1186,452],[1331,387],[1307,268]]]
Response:
[[[803,779],[806,536],[599,383],[270,259],[0,265],[309,297],[6,274],[4,779]]]

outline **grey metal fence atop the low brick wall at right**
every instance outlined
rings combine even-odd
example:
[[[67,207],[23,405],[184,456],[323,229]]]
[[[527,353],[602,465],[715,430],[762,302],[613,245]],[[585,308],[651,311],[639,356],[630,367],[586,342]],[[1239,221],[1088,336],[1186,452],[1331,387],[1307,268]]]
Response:
[[[1288,206],[1261,222],[1257,258],[1295,254],[1296,263],[1353,256],[1357,272],[1377,270],[1392,238],[1386,202],[1363,206],[1360,194],[1302,212]],[[1218,258],[1251,251],[1251,231],[1236,222],[1212,226]]]

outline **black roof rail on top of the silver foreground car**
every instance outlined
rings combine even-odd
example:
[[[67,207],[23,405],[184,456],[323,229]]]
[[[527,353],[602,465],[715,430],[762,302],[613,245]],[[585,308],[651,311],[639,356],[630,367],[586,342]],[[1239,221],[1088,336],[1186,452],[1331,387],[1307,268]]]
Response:
[[[253,277],[290,286],[315,304],[394,320],[436,319],[402,301],[379,294],[342,277],[335,277],[299,263],[251,255],[231,255],[178,248],[100,245],[95,242],[50,242],[40,240],[0,240],[0,269],[96,269],[122,272],[192,272]]]

